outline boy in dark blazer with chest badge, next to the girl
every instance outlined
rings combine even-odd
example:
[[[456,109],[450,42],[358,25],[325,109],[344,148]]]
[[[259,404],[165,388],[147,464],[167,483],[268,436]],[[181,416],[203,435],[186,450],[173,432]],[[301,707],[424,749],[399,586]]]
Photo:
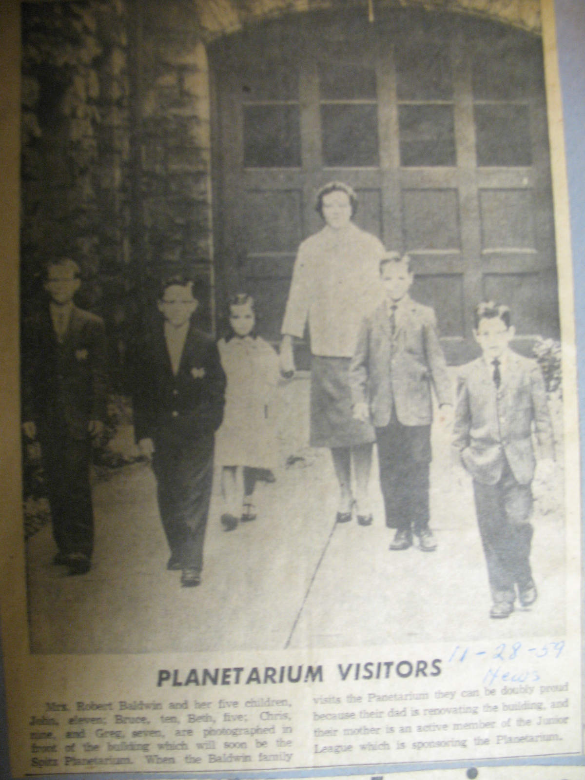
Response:
[[[218,348],[195,327],[193,282],[161,285],[158,313],[137,347],[134,430],[152,456],[158,509],[171,550],[167,569],[181,569],[183,587],[200,584],[211,501],[215,431],[222,423],[225,374]]]

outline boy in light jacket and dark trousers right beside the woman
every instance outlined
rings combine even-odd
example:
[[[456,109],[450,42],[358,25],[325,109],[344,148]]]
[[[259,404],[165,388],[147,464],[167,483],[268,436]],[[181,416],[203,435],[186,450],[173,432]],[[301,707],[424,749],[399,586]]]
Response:
[[[353,413],[375,427],[386,525],[396,529],[390,549],[410,548],[414,532],[430,552],[431,383],[439,406],[451,406],[451,382],[434,311],[408,294],[410,257],[385,254],[380,278],[386,300],[363,319],[349,369]]]

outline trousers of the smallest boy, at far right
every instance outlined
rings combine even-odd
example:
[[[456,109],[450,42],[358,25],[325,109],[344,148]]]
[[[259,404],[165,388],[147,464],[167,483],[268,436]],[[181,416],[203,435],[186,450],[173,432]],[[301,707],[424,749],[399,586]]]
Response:
[[[530,541],[533,528],[530,483],[522,485],[506,460],[495,485],[473,480],[473,495],[492,595],[506,594],[514,601],[514,585],[530,587]]]

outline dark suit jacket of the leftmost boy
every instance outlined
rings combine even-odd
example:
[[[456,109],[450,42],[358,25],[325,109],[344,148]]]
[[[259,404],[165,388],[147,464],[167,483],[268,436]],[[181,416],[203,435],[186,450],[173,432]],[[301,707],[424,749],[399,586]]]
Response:
[[[23,420],[41,436],[82,440],[90,420],[105,421],[107,346],[101,317],[73,307],[58,343],[48,307],[23,323]]]

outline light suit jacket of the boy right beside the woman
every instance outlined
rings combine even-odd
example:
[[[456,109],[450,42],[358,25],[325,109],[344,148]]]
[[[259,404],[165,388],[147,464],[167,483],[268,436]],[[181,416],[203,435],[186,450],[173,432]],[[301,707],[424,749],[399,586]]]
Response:
[[[364,317],[349,367],[349,385],[354,405],[370,403],[375,427],[388,425],[392,403],[402,425],[430,425],[431,382],[439,404],[452,403],[451,381],[430,307],[410,297],[402,300],[395,314],[394,339],[386,303]]]

